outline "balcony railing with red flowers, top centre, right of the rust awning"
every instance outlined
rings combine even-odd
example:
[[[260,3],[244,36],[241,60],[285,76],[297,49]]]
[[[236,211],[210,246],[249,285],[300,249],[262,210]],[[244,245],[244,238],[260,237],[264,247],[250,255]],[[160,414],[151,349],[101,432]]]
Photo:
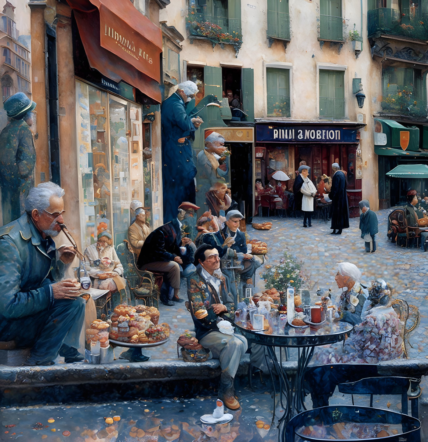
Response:
[[[241,19],[200,14],[192,6],[187,16],[187,28],[189,35],[204,37],[213,46],[231,44],[238,51],[242,45]]]

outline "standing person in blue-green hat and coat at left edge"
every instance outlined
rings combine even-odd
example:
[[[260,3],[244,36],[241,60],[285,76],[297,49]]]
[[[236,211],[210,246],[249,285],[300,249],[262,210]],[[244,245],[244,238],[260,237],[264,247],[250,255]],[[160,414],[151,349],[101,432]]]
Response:
[[[30,127],[31,111],[36,103],[23,92],[4,100],[4,110],[10,122],[0,133],[0,185],[3,224],[24,213],[24,201],[34,187],[36,151]]]

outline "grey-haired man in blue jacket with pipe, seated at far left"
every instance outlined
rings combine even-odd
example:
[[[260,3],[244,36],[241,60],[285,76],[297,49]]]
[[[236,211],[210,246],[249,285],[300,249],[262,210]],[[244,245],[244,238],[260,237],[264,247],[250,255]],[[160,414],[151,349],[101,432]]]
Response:
[[[64,223],[63,196],[55,183],[33,187],[26,213],[0,228],[0,341],[30,347],[27,365],[53,365],[58,354],[68,363],[84,359],[77,351],[85,316],[77,280],[54,279],[52,238]]]

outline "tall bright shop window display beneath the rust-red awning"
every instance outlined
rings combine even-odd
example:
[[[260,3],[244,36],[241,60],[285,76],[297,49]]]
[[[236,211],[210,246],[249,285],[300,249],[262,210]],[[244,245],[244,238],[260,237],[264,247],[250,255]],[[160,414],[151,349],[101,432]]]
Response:
[[[143,201],[141,108],[79,80],[76,106],[83,247],[93,244],[102,228],[117,246],[127,236],[132,196]]]

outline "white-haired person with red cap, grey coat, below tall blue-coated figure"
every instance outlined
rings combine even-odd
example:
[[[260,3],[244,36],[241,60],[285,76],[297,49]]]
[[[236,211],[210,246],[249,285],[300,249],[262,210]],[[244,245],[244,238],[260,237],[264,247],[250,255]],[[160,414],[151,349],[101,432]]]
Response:
[[[212,132],[205,138],[205,149],[197,156],[197,180],[208,180],[208,188],[219,179],[225,180],[229,173],[229,156],[224,147],[224,137],[220,133]],[[207,189],[203,189],[208,191]]]

